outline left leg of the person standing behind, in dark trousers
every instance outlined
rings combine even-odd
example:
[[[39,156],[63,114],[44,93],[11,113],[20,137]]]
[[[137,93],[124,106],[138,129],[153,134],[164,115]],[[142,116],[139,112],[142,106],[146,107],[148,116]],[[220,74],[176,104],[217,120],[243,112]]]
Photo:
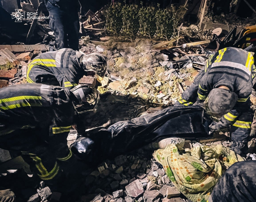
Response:
[[[49,26],[55,34],[58,49],[68,48],[67,33],[64,29],[65,15],[67,15],[67,13],[50,4],[49,1],[47,2],[46,7],[49,11]]]

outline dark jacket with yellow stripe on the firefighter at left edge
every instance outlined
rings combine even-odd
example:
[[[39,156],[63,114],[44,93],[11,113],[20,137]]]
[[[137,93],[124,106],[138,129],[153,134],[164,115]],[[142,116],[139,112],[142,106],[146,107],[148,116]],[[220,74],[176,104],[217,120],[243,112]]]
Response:
[[[0,89],[0,136],[22,128],[69,132],[75,109],[67,89],[42,84],[21,84]]]

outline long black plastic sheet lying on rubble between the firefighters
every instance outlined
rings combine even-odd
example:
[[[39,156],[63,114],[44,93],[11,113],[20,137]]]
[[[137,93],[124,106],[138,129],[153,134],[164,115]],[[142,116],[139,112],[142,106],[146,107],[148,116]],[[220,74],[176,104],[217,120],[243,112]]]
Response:
[[[108,129],[89,131],[86,135],[94,142],[95,149],[95,152],[91,152],[94,157],[90,159],[127,153],[160,137],[206,137],[208,125],[204,110],[199,106],[168,107],[129,121],[117,122]],[[72,150],[79,150],[76,153],[80,158],[84,154],[85,159],[89,160],[87,149],[81,146],[83,141],[80,140],[72,145]]]

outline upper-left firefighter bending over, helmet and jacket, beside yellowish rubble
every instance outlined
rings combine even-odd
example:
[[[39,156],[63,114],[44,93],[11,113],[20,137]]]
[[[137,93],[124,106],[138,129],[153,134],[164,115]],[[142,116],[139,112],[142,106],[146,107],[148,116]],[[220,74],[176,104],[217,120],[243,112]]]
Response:
[[[95,75],[101,82],[106,71],[107,61],[103,55],[86,55],[70,48],[63,48],[35,57],[28,65],[27,81],[72,89],[84,75]]]

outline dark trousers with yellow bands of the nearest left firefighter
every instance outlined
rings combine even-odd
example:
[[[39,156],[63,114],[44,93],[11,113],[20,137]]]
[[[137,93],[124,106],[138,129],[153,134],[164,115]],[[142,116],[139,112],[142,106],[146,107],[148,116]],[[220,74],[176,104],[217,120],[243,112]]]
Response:
[[[42,130],[42,129],[41,129]],[[62,176],[62,162],[72,159],[72,152],[67,147],[63,133],[49,138],[41,136],[39,128],[20,129],[0,136],[0,147],[16,151],[30,165],[30,170],[48,184],[58,186],[58,178]]]

